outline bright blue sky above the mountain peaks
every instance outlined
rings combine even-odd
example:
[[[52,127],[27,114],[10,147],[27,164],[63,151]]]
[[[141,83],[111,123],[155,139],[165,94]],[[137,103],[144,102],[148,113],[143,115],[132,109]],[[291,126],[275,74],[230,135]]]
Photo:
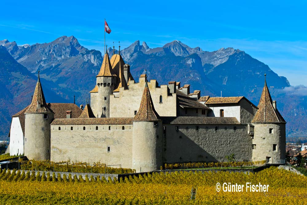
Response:
[[[0,39],[18,45],[74,35],[88,49],[151,48],[180,40],[213,51],[244,50],[291,85],[307,85],[307,1],[11,1],[2,2]],[[115,44],[115,46],[118,46]]]

